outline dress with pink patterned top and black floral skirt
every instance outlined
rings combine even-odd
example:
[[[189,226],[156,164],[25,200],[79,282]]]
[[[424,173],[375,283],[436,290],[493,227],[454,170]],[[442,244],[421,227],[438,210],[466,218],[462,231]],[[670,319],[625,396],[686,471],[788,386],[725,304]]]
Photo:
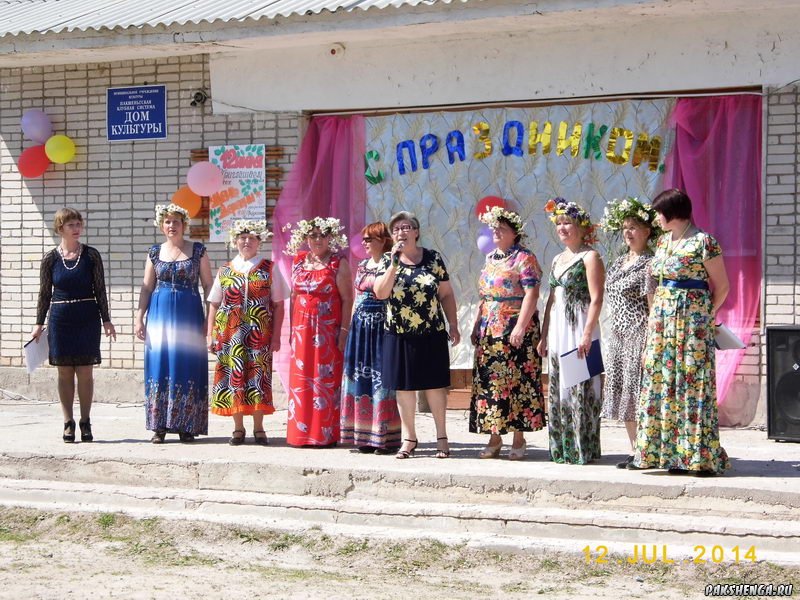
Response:
[[[544,427],[542,364],[536,352],[539,319],[534,315],[520,347],[511,345],[526,289],[542,278],[536,257],[513,247],[507,256],[486,257],[478,282],[480,334],[472,372],[469,430],[503,435]]]

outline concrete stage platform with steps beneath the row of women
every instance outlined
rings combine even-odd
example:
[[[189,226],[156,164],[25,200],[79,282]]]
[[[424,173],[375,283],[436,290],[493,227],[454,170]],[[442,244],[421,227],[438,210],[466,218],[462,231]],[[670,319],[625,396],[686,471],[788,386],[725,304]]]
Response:
[[[507,460],[507,447],[498,460],[480,460],[486,437],[468,433],[466,413],[452,410],[446,460],[434,458],[426,414],[409,460],[288,447],[286,411],[265,419],[267,447],[252,443],[250,424],[248,443],[229,446],[232,420],[214,415],[210,435],[193,444],[172,435],[150,444],[141,405],[98,403],[92,423],[95,442],[64,444],[57,404],[4,401],[0,505],[526,552],[589,546],[629,554],[632,544],[646,544],[710,560],[718,546],[728,561],[754,548],[759,560],[800,564],[800,444],[759,430],[723,429],[733,468],[695,478],[615,468],[628,447],[616,423],[603,426],[603,458],[584,466],[550,462],[546,431],[528,434],[524,461]]]

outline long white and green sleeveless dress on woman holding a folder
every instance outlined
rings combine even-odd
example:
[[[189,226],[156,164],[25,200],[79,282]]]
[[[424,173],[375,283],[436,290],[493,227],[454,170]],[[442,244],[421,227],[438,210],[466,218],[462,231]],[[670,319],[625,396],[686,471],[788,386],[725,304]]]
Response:
[[[566,267],[550,270],[551,294],[548,334],[548,434],[550,459],[557,463],[585,464],[600,458],[600,376],[596,375],[572,387],[561,385],[560,356],[574,350],[583,337],[589,309],[589,282],[584,254]],[[592,338],[599,338],[595,327]]]

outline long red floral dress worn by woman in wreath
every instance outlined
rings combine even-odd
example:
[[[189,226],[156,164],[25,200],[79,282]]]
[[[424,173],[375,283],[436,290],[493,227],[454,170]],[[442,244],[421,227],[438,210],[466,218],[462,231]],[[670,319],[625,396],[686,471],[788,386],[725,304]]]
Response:
[[[292,446],[327,446],[339,441],[342,298],[336,287],[339,257],[319,270],[305,268],[307,252],[292,264],[292,321],[289,415],[286,441]]]

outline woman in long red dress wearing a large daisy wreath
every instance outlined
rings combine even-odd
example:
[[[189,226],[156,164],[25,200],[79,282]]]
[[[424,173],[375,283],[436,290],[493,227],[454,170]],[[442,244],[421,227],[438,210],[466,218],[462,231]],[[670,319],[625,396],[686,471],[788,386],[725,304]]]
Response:
[[[340,437],[340,392],[353,288],[337,254],[347,245],[338,219],[300,221],[287,244],[292,261],[290,446],[332,446]],[[300,250],[308,244],[308,251]]]

